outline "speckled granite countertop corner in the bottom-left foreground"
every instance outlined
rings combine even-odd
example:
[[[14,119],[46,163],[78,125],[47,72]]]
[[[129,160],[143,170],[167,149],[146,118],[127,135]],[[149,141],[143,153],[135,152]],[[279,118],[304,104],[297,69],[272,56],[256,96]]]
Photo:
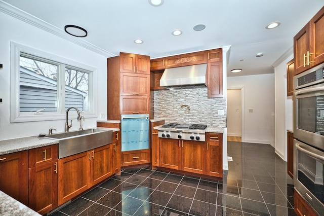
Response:
[[[11,196],[8,196],[4,192],[0,191],[0,215],[12,216],[12,215],[24,215],[24,216],[39,216],[36,211],[28,208],[21,202],[15,200]]]

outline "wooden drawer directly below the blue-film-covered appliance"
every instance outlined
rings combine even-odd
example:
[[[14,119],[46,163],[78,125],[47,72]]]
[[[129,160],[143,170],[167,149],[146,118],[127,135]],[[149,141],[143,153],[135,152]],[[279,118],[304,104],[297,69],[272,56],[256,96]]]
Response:
[[[149,150],[138,150],[138,151],[128,151],[128,152],[121,152],[123,157],[123,166],[135,165],[135,164],[142,164],[142,163],[149,163]]]

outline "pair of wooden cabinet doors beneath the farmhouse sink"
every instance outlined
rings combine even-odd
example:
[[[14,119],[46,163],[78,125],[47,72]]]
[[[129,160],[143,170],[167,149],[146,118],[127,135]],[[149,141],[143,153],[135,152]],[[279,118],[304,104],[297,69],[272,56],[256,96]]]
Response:
[[[59,205],[112,175],[111,145],[58,160]]]

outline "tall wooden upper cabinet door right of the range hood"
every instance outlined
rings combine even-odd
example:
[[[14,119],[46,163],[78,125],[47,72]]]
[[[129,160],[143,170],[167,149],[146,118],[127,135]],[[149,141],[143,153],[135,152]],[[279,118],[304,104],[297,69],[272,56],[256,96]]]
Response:
[[[210,62],[207,65],[208,98],[223,97],[223,64],[222,61]]]

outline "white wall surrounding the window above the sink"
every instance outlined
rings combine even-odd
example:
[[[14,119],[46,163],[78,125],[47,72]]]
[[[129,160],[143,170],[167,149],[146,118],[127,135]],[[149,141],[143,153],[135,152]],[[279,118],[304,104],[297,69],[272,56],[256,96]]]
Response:
[[[0,140],[48,133],[49,128],[62,132],[65,123],[65,120],[10,123],[10,41],[97,68],[95,97],[98,99],[95,112],[98,117],[86,118],[84,128],[95,127],[100,114],[107,116],[106,57],[3,12],[0,12],[0,26],[0,63],[3,64],[3,69],[0,69],[0,98],[3,99],[0,103]],[[76,120],[73,122],[70,130],[78,129]]]

